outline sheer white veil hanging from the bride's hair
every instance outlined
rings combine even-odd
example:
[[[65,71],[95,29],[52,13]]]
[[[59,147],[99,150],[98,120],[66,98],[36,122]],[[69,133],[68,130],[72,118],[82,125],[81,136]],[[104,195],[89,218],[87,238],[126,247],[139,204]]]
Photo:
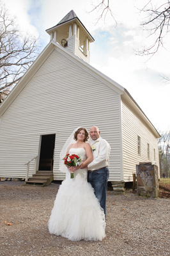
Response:
[[[66,173],[66,171],[68,170],[66,165],[64,164],[63,158],[66,155],[66,151],[68,150],[68,147],[70,146],[70,144],[76,143],[76,141],[74,140],[74,136],[73,134],[75,134],[75,132],[81,127],[77,127],[76,129],[73,130],[72,134],[68,137],[68,139],[65,142],[65,145],[63,146],[63,148],[61,149],[60,152],[60,157],[59,157],[59,170],[61,172]]]

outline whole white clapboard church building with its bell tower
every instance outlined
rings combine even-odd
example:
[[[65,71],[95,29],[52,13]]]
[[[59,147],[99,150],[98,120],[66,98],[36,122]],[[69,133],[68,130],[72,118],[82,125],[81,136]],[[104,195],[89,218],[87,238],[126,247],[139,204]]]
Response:
[[[59,152],[73,129],[92,125],[111,145],[109,181],[131,182],[140,162],[159,168],[160,134],[125,88],[89,65],[94,39],[73,10],[47,33],[0,106],[0,177],[31,180],[42,170],[65,179]]]

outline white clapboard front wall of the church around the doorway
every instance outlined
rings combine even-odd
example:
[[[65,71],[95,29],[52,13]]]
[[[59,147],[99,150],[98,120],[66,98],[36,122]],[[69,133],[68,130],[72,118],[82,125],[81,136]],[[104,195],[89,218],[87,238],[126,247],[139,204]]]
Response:
[[[40,153],[40,136],[56,134],[54,179],[59,152],[75,127],[100,128],[111,144],[110,178],[120,180],[120,96],[54,50],[1,116],[0,177],[26,176],[26,163]],[[30,164],[29,177],[34,172]]]

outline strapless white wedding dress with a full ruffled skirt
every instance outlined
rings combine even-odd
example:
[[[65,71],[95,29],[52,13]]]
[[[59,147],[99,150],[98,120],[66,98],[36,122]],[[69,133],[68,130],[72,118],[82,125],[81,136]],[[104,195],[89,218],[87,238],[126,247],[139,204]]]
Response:
[[[84,148],[70,148],[70,154],[86,159]],[[49,232],[72,241],[102,241],[105,237],[105,215],[94,189],[87,181],[87,169],[70,172],[59,186],[50,219]]]

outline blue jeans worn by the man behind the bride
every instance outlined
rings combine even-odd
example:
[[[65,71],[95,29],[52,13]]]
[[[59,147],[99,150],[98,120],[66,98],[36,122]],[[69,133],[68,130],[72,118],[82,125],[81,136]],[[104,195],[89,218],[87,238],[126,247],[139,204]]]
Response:
[[[88,182],[95,189],[95,195],[100,202],[100,206],[104,209],[106,215],[106,194],[107,181],[109,179],[109,169],[107,167],[88,172]]]

